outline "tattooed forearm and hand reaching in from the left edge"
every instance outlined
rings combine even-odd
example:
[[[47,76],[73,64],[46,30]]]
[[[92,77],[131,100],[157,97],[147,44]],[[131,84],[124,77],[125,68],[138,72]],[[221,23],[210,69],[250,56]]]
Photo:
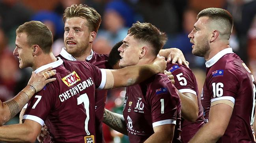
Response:
[[[13,118],[36,92],[41,91],[47,83],[56,80],[56,78],[47,80],[47,78],[56,74],[56,70],[49,71],[50,69],[52,68],[48,68],[37,74],[32,72],[28,85],[21,92],[6,102],[2,103],[0,101],[0,126]]]

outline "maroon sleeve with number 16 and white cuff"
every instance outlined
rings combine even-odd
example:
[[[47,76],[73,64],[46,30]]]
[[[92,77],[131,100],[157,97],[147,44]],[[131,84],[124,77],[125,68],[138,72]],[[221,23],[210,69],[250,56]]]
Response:
[[[208,80],[207,87],[211,94],[211,103],[219,100],[229,100],[235,104],[239,80],[234,69],[215,70],[206,80]]]

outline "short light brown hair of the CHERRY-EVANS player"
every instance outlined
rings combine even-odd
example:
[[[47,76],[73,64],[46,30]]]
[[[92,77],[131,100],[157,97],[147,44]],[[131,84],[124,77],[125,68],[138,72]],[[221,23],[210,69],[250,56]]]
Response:
[[[29,45],[39,45],[44,53],[50,53],[50,51],[52,51],[52,32],[42,22],[25,22],[16,29],[16,35],[19,33],[27,34],[27,42]]]

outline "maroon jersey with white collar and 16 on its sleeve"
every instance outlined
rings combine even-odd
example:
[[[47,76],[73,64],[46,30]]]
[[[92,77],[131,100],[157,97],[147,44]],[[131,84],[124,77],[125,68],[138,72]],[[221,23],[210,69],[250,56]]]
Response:
[[[211,102],[230,100],[234,109],[228,127],[217,143],[254,143],[250,122],[254,116],[255,81],[245,63],[226,48],[206,62],[201,96],[206,122]]]

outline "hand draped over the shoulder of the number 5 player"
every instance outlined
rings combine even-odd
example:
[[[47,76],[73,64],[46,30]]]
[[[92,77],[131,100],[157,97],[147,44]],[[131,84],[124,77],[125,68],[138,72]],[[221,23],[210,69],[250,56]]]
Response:
[[[167,62],[179,63],[180,65],[185,65],[186,67],[189,67],[189,62],[186,61],[182,51],[178,48],[170,48],[171,52],[167,58]]]

